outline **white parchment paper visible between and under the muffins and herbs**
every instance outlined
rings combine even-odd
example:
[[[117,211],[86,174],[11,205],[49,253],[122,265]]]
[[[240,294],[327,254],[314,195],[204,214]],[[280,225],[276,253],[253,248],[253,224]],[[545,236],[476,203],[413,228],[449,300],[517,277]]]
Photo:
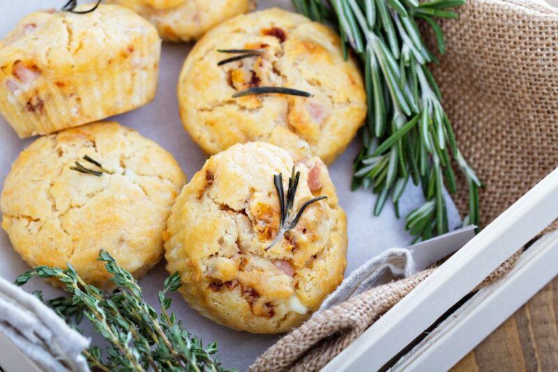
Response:
[[[33,10],[60,8],[65,2],[65,0],[0,0],[2,10],[0,12],[0,37],[3,38],[21,17]],[[292,10],[289,0],[260,0],[258,8],[271,6]],[[206,155],[183,130],[176,98],[179,72],[190,47],[191,45],[186,44],[164,43],[155,100],[140,109],[112,118],[123,125],[132,127],[145,137],[153,139],[172,153],[188,176],[188,180],[202,168],[206,159]],[[12,162],[31,141],[33,139],[18,139],[8,123],[0,117],[0,183],[2,185]],[[352,161],[359,151],[359,146],[357,138],[329,168],[331,178],[337,188],[340,204],[347,212],[349,219],[348,266],[345,275],[385,249],[407,247],[412,240],[404,231],[404,222],[395,218],[390,201],[386,203],[381,217],[372,217],[375,195],[363,190],[350,191]],[[416,208],[422,202],[420,189],[407,187],[407,192],[400,201],[401,214],[406,215],[409,210]],[[448,200],[447,205],[450,227],[453,229],[460,224],[460,219],[453,202]],[[18,274],[26,270],[29,268],[13,251],[8,236],[4,231],[0,231],[1,277],[12,281]],[[165,263],[161,262],[144,279],[140,280],[140,285],[144,288],[145,297],[149,303],[153,305],[157,303],[157,292],[162,288],[163,280],[167,275]],[[51,288],[40,281],[33,281],[24,288],[30,292],[43,289],[45,298],[61,295],[60,290]],[[206,343],[218,341],[220,359],[224,366],[236,367],[240,371],[246,370],[258,355],[280,337],[280,335],[258,335],[229,330],[200,316],[190,309],[179,295],[173,297],[172,311],[183,320],[190,332],[202,337]],[[86,331],[86,333],[93,336],[93,342],[98,340],[93,332]]]

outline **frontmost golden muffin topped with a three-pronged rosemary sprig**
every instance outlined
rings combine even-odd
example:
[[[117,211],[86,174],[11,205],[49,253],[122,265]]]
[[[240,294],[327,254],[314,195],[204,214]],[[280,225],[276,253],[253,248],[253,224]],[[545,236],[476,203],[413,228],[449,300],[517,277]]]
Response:
[[[292,230],[280,230],[275,186],[283,193],[300,172]],[[285,204],[287,205],[287,204]],[[181,274],[190,305],[218,323],[254,333],[300,325],[341,283],[347,265],[347,217],[318,157],[294,162],[264,142],[237,144],[214,155],[182,189],[167,222],[167,270]]]

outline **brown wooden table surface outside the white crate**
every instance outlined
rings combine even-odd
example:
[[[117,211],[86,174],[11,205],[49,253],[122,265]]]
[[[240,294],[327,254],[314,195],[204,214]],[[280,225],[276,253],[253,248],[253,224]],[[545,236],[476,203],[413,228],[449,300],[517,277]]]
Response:
[[[461,359],[453,371],[558,371],[558,277]]]

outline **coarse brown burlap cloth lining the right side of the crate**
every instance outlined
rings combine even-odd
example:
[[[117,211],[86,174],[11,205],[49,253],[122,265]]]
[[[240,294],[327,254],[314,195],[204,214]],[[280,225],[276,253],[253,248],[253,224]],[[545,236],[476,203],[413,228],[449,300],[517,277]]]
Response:
[[[433,72],[462,153],[485,183],[480,215],[488,224],[558,166],[558,10],[532,1],[467,0],[458,13],[458,20],[441,22],[446,55]],[[426,37],[434,40],[430,32]],[[467,188],[462,178],[458,185],[455,203],[465,215]],[[519,254],[479,286],[506,274]],[[322,368],[433,270],[318,313],[250,371]]]

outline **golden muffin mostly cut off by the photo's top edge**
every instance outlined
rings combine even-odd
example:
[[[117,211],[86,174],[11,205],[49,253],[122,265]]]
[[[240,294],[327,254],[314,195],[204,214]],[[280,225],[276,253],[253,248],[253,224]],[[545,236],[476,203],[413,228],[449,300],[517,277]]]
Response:
[[[255,0],[107,0],[135,10],[168,41],[197,40],[211,27],[255,8]]]

